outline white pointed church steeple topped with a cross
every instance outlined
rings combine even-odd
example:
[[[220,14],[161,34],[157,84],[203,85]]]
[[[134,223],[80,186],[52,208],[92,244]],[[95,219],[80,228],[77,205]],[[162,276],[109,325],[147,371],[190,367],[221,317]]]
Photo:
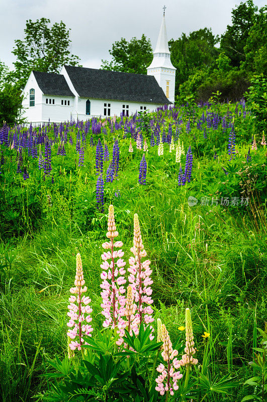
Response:
[[[168,47],[165,25],[165,8],[166,7],[164,6],[157,44],[153,52],[154,57],[152,63],[147,68],[147,74],[154,75],[159,86],[163,89],[166,97],[170,100],[170,102],[174,103],[176,68],[170,61],[170,51]]]

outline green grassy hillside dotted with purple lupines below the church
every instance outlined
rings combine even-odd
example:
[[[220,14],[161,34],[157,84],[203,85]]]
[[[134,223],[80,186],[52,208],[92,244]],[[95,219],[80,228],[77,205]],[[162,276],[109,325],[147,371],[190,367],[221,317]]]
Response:
[[[133,215],[139,216],[153,269],[154,318],[161,318],[173,341],[182,341],[179,327],[185,325],[189,307],[199,364],[209,342],[212,375],[231,373],[239,381],[232,396],[213,393],[205,400],[240,401],[248,393],[243,382],[253,375],[248,362],[260,339],[256,328],[264,329],[267,321],[266,146],[260,144],[262,135],[245,104],[185,106],[117,118],[116,123],[93,119],[87,126],[71,122],[61,128],[50,124],[33,131],[7,131],[2,128],[0,137],[3,401],[33,400],[47,389],[42,376],[46,360],[66,354],[67,299],[77,252],[92,298],[93,326],[101,329],[100,264],[110,204],[125,261],[131,256]],[[146,138],[148,151],[136,148],[137,132],[142,141]],[[192,177],[184,185],[179,182],[175,149],[169,152],[165,142],[163,155],[158,155],[157,141],[165,135],[170,142],[170,133],[174,146],[179,140],[184,144],[183,172],[192,149]],[[257,150],[251,149],[252,138]],[[105,140],[109,150],[103,168],[104,212],[96,200],[98,139],[103,147]],[[120,149],[118,176],[106,182],[115,139]],[[57,155],[63,140],[66,155]],[[47,175],[38,167],[39,155],[32,157],[36,144],[46,159],[45,141],[52,148]],[[143,154],[145,185],[138,182]],[[198,203],[191,205],[189,197]],[[208,339],[202,337],[205,331]]]

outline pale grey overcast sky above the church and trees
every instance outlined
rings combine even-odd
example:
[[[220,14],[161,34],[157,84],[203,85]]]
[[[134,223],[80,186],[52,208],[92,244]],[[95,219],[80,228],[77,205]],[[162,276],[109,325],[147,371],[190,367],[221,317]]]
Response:
[[[165,1],[165,3],[164,3]],[[154,48],[165,4],[168,39],[179,38],[200,28],[215,35],[231,23],[231,11],[238,0],[0,0],[0,60],[10,68],[15,39],[24,38],[26,20],[61,20],[70,28],[71,52],[84,67],[100,68],[101,59],[110,60],[109,49],[121,37],[130,40],[144,34]],[[265,0],[254,0],[258,7]]]

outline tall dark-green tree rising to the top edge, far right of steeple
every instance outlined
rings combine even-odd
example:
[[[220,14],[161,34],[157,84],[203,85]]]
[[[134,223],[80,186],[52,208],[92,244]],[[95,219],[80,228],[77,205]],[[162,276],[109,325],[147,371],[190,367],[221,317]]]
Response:
[[[232,25],[227,25],[221,37],[221,50],[231,59],[232,66],[239,66],[245,60],[244,47],[250,29],[256,20],[257,7],[252,0],[240,3],[232,10]]]

